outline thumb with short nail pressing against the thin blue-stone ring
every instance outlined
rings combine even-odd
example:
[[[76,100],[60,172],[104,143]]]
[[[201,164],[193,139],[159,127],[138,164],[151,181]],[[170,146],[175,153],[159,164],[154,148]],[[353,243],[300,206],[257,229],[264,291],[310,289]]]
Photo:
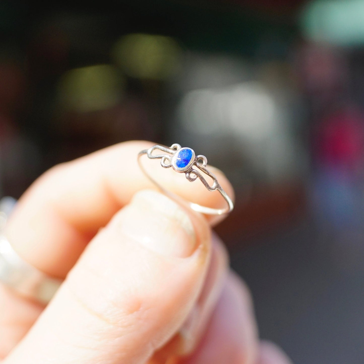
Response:
[[[157,192],[137,193],[4,363],[145,363],[185,321],[209,252],[201,215]]]

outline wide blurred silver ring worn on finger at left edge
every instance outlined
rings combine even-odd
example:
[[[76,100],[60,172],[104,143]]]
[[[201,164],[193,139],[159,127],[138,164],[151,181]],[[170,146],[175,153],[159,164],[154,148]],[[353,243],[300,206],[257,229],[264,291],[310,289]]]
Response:
[[[7,215],[1,210],[2,201],[3,199],[0,201],[0,281],[22,296],[47,304],[62,281],[40,272],[15,252],[3,232]]]

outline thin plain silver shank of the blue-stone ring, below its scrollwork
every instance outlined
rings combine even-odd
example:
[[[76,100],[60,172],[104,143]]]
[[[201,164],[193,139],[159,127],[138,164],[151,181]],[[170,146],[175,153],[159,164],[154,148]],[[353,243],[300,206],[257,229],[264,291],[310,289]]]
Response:
[[[151,182],[153,182],[153,184],[155,186],[157,186],[159,188],[159,190],[161,190],[164,194],[168,195],[169,197],[175,199],[177,197],[176,194],[166,190],[153,177],[151,177],[151,175],[149,173],[147,173],[147,171],[143,167],[143,164],[141,163],[141,157],[143,155],[147,155],[147,157],[148,157],[148,149],[142,150],[138,154],[138,163],[139,163],[139,167],[142,170],[142,172],[146,175],[146,177]],[[201,206],[201,205],[198,205],[197,203],[188,202],[191,209],[194,211],[197,211],[199,213],[206,214],[206,215],[222,215],[222,214],[226,214],[226,213],[229,213],[230,211],[232,211],[234,208],[234,204],[233,204],[232,199],[229,197],[229,195],[227,195],[227,193],[222,189],[222,187],[219,184],[217,184],[215,190],[219,191],[221,196],[225,199],[225,201],[227,203],[227,207],[222,208],[222,209],[214,209],[212,207]]]

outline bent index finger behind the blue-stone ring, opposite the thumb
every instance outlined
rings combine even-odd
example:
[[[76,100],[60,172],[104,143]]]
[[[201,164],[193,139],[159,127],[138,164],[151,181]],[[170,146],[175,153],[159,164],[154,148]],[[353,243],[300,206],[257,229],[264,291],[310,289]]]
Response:
[[[152,145],[120,143],[43,174],[20,198],[9,219],[7,237],[17,253],[41,271],[64,278],[100,227],[135,192],[156,188],[137,163],[139,151]],[[224,203],[218,193],[211,193],[202,183],[191,183],[155,162],[148,161],[145,167],[173,193],[213,208]],[[218,170],[214,174],[232,196],[225,175]],[[216,223],[216,217],[209,218]]]

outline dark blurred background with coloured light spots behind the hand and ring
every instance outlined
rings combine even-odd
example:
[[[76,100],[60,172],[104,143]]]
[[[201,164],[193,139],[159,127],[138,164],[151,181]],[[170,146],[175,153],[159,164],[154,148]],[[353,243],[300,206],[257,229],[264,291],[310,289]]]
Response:
[[[2,0],[0,29],[1,195],[117,142],[192,147],[236,189],[217,232],[261,336],[363,364],[364,0]]]

